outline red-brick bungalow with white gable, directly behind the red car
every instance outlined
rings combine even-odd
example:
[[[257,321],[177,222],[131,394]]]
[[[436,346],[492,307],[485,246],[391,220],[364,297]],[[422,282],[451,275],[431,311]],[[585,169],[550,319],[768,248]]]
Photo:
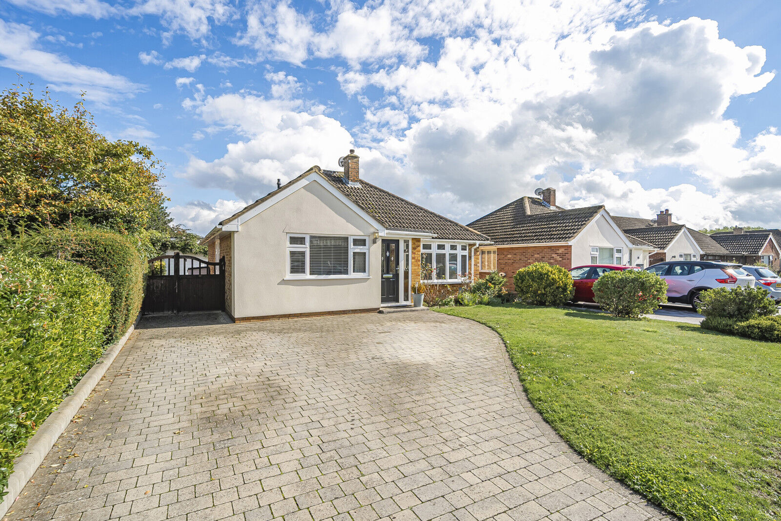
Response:
[[[572,268],[581,264],[647,266],[658,248],[631,236],[613,221],[604,206],[565,209],[556,190],[537,190],[540,197],[521,197],[474,222],[469,228],[490,237],[480,246],[479,271],[500,271],[515,289],[512,275],[535,262]]]

